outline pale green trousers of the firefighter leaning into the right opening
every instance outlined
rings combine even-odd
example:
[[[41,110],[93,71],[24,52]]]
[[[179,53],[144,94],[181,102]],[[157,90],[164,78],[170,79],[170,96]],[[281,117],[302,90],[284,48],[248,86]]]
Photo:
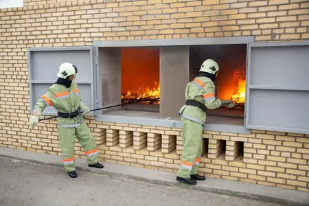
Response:
[[[190,178],[190,174],[198,173],[198,164],[200,163],[203,147],[203,126],[183,117],[181,117],[181,124],[183,130],[183,153],[177,176]]]

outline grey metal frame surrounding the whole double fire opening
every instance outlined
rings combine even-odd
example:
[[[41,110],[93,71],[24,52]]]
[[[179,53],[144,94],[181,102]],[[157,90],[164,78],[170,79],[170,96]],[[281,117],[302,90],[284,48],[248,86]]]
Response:
[[[104,47],[168,47],[168,46],[193,46],[193,45],[233,45],[233,44],[246,44],[248,47],[249,43],[254,42],[253,36],[238,36],[238,37],[220,37],[220,38],[174,38],[174,39],[159,39],[159,40],[137,40],[137,41],[94,41],[93,46],[96,47],[96,60],[97,60],[97,72],[100,69],[99,61],[99,49]],[[248,62],[248,51],[247,59]],[[247,73],[247,67],[246,67]],[[97,82],[101,82],[97,76]],[[98,84],[98,83],[96,83]],[[98,85],[100,88],[100,85]],[[101,88],[97,89],[97,101],[100,102],[99,105],[102,106],[102,96],[100,95]],[[247,90],[247,89],[246,89]],[[246,111],[246,106],[244,108]],[[126,117],[119,115],[98,115],[96,117],[97,121],[100,122],[117,122],[123,124],[141,124],[149,126],[162,126],[171,128],[181,128],[181,122],[177,120],[172,120],[172,117]],[[245,116],[244,116],[245,122]],[[232,124],[206,124],[203,126],[204,130],[212,130],[218,132],[227,133],[243,133],[249,134],[250,130],[240,125]]]

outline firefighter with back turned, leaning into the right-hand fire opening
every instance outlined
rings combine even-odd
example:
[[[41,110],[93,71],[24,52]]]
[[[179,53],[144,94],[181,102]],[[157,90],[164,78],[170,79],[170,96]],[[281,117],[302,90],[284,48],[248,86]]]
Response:
[[[207,109],[219,108],[221,104],[229,108],[235,105],[229,100],[216,99],[214,80],[218,71],[217,62],[205,60],[198,76],[185,88],[186,103],[179,111],[183,131],[183,153],[176,177],[176,180],[182,183],[195,185],[196,181],[205,180],[205,176],[198,174],[198,164],[201,159],[202,133]]]

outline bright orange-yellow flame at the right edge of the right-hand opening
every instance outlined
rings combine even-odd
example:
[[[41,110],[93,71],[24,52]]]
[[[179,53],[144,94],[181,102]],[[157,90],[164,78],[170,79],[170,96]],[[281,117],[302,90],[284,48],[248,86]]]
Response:
[[[237,87],[236,92],[231,95],[231,100],[235,103],[244,103],[246,99],[246,80],[242,78],[240,71],[234,73],[234,80],[237,82]]]

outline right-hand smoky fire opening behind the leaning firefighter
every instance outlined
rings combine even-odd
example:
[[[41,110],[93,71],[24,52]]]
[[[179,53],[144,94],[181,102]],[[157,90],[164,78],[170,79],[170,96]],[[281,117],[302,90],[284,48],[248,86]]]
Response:
[[[207,58],[218,62],[220,71],[214,82],[216,97],[232,100],[236,106],[208,110],[207,116],[243,119],[246,92],[247,45],[198,45],[190,47],[190,80]]]

